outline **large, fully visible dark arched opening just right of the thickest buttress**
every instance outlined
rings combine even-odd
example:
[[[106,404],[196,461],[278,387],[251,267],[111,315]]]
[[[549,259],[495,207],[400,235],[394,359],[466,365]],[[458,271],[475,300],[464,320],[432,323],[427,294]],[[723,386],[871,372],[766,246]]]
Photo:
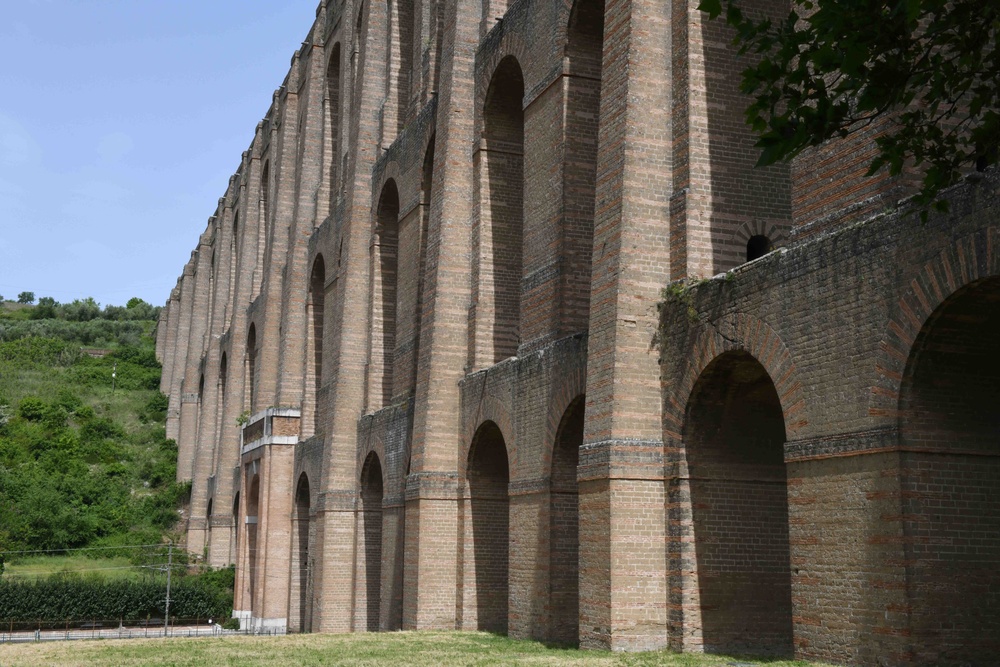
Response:
[[[785,421],[744,351],[702,372],[684,427],[705,651],[792,655]]]

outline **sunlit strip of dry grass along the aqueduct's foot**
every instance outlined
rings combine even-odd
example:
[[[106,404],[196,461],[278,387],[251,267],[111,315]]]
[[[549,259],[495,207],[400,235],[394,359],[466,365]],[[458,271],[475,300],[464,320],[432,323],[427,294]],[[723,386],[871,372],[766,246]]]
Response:
[[[138,667],[201,667],[239,665],[278,667],[304,665],[391,665],[392,667],[459,667],[530,665],[560,667],[771,667],[817,665],[792,661],[759,661],[728,656],[650,653],[608,653],[549,648],[485,633],[392,632],[353,635],[288,635],[284,637],[221,637],[202,639],[131,639],[71,641],[0,646],[0,664],[43,667],[118,665]]]

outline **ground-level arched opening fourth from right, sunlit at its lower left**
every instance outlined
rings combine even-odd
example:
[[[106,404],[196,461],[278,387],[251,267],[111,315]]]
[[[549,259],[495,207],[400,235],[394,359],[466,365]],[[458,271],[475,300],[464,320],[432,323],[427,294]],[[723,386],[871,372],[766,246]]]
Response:
[[[476,629],[507,634],[510,473],[503,433],[491,421],[472,440],[467,479],[472,549],[466,550],[465,581],[471,594],[463,612]]]

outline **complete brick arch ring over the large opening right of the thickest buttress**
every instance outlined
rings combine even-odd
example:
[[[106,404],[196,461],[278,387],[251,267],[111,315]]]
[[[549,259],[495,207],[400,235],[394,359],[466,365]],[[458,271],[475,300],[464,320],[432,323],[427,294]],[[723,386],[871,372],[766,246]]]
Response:
[[[664,439],[668,448],[681,446],[688,404],[702,373],[716,358],[735,350],[753,356],[770,376],[781,403],[787,440],[793,440],[809,423],[798,367],[781,337],[763,320],[737,314],[714,325],[702,325],[692,349],[677,390],[664,402]]]

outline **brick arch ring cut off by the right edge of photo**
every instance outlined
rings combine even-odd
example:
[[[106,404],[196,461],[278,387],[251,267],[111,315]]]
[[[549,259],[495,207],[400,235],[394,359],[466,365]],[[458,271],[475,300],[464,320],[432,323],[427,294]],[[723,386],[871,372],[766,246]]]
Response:
[[[910,352],[938,306],[966,285],[1000,275],[1000,226],[955,240],[897,286],[895,308],[885,325],[869,390],[868,415],[893,426]]]

